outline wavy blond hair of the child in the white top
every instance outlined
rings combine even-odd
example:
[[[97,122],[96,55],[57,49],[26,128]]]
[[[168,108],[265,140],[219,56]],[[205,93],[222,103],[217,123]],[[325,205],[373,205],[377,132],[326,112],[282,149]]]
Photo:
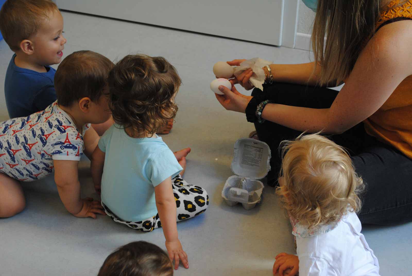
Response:
[[[283,141],[284,185],[276,189],[283,208],[309,229],[358,212],[363,180],[342,148],[319,134]]]

